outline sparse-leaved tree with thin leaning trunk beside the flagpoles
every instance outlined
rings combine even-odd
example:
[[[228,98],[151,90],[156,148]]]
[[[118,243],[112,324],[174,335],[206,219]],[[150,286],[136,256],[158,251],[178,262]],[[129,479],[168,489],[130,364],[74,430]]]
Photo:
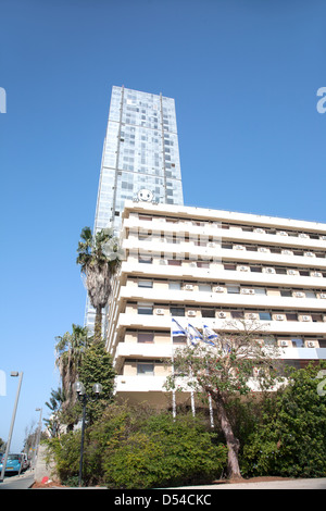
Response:
[[[238,396],[254,390],[266,390],[281,379],[277,373],[278,350],[262,344],[266,333],[255,322],[228,325],[231,333],[218,336],[214,346],[205,342],[188,345],[175,350],[174,367],[166,381],[167,390],[192,390],[202,398],[210,396],[215,403],[217,419],[228,447],[228,476],[241,478],[239,439],[228,413],[228,403]],[[254,387],[252,387],[254,385]]]

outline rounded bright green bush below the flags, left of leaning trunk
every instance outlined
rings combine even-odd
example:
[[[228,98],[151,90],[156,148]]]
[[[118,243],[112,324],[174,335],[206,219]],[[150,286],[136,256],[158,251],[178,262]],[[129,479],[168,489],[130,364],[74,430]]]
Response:
[[[113,447],[113,448],[112,448]],[[171,413],[151,416],[105,451],[104,482],[111,488],[151,488],[211,482],[227,460],[227,449],[213,444],[200,420]]]

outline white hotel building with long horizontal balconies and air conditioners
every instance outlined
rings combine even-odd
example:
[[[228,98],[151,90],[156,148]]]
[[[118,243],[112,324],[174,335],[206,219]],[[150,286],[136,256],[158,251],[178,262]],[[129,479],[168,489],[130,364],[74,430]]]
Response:
[[[326,359],[326,224],[127,200],[109,303],[116,394],[171,404],[172,317],[201,329],[255,317],[297,367]]]

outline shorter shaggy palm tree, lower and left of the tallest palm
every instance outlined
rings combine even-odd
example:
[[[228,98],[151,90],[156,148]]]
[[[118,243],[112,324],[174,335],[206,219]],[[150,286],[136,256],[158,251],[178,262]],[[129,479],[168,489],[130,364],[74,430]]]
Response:
[[[62,381],[62,392],[65,396],[63,408],[68,408],[74,402],[73,385],[78,378],[79,369],[86,348],[90,342],[88,329],[74,325],[73,332],[66,332],[63,336],[55,337],[55,365],[59,367]]]

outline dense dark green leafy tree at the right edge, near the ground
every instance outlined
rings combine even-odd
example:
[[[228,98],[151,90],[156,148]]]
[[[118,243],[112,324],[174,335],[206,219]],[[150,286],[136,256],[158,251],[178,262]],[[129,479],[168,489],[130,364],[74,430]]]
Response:
[[[325,477],[326,396],[318,391],[325,377],[325,361],[291,371],[243,448],[248,475]]]

